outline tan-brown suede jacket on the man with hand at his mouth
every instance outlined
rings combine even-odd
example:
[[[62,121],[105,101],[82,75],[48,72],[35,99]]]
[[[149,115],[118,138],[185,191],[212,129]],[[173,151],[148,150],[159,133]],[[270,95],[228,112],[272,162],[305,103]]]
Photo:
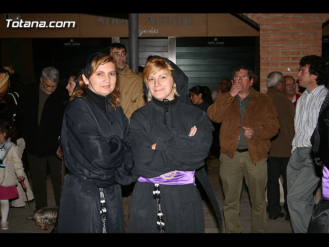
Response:
[[[252,89],[244,116],[244,127],[254,131],[251,140],[246,139],[252,163],[268,157],[270,138],[278,133],[278,113],[270,97]],[[208,108],[208,116],[214,122],[222,122],[220,132],[221,153],[233,158],[242,128],[239,101],[230,93],[218,95]]]

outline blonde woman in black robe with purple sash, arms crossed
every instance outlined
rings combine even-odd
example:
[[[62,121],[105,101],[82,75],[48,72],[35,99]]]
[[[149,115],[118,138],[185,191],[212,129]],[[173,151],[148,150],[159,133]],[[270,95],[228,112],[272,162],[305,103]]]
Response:
[[[137,182],[128,232],[204,233],[194,174],[208,156],[212,124],[189,102],[188,78],[170,60],[150,58],[143,73],[149,102],[130,118]],[[206,174],[204,169],[200,174]],[[207,176],[203,178],[213,195]]]

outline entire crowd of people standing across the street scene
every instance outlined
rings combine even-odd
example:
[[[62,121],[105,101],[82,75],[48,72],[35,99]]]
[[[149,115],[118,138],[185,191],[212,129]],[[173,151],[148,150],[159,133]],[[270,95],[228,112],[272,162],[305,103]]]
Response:
[[[243,181],[252,233],[267,232],[267,214],[290,220],[294,233],[329,232],[329,71],[322,57],[303,57],[298,81],[269,73],[266,94],[243,65],[211,93],[206,85],[189,89],[188,77],[167,58],[150,56],[136,74],[126,57],[120,43],[90,55],[84,68],[72,70],[66,90],[57,68],[45,67],[40,83],[24,85],[11,64],[4,66],[1,230],[9,229],[9,205],[35,200],[35,211],[48,207],[49,172],[58,207],[52,232],[204,233],[202,190],[220,232],[241,233]],[[220,161],[223,220],[209,158]]]

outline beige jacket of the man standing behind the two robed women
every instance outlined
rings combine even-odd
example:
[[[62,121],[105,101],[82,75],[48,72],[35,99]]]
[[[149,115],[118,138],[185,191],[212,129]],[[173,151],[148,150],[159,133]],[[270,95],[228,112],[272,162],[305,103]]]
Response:
[[[146,104],[146,97],[143,91],[143,78],[129,68],[129,65],[119,72],[120,84],[120,105],[124,114],[130,119],[131,115],[138,108]]]

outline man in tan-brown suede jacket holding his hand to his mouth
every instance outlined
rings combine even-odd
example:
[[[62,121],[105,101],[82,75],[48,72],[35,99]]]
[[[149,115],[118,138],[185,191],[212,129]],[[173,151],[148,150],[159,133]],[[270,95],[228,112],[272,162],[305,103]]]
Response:
[[[251,232],[266,233],[267,157],[270,138],[279,130],[278,113],[270,97],[252,89],[252,71],[238,66],[232,87],[208,108],[209,118],[222,123],[220,178],[227,233],[241,233],[240,197],[245,178],[251,201]]]

